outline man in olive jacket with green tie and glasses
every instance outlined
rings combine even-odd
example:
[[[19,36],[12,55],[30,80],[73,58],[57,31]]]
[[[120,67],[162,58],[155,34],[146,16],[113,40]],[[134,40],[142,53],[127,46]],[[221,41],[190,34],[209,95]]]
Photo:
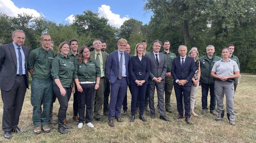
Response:
[[[104,100],[104,92],[105,92],[105,85],[106,85],[106,79],[105,79],[105,63],[106,59],[108,58],[108,53],[101,51],[101,41],[99,39],[96,39],[93,41],[93,47],[94,51],[91,52],[91,57],[93,59],[96,59],[99,63],[99,67],[101,69],[101,79],[99,80],[99,88],[96,90],[95,94],[95,101],[94,101],[94,108],[93,108],[93,114],[96,121],[102,121],[101,118],[101,110]]]

